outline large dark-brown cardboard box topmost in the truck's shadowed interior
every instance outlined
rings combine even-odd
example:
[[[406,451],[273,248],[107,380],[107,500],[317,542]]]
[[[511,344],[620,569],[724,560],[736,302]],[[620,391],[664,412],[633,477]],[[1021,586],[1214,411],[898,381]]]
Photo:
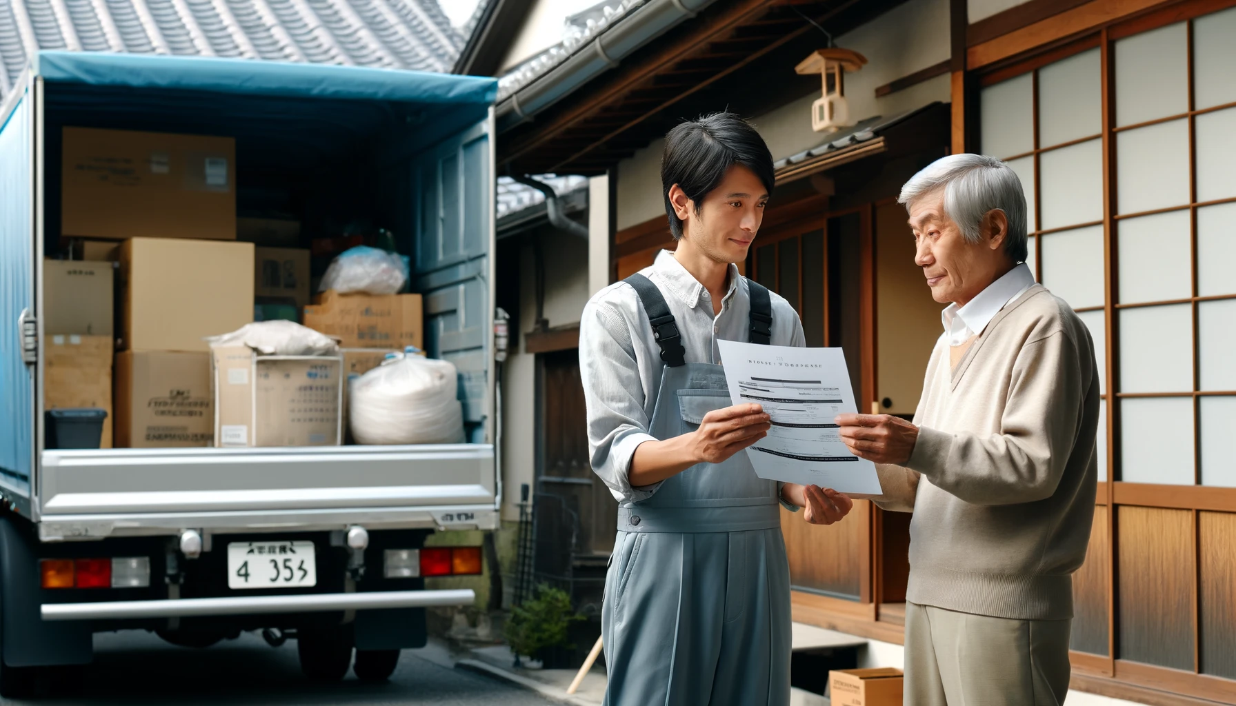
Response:
[[[231,137],[66,127],[61,234],[236,240]]]

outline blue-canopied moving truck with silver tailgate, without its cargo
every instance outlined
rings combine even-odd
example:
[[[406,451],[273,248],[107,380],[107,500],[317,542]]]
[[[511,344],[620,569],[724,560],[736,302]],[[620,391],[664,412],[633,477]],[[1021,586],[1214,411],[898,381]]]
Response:
[[[386,678],[399,649],[425,643],[426,607],[475,601],[426,590],[425,576],[481,572],[480,549],[426,548],[426,537],[498,522],[497,82],[199,57],[32,59],[0,105],[0,692],[31,668],[89,663],[93,633],[119,629],[185,645],[263,631],[272,644],[297,639],[311,676],[342,678],[355,653],[360,676]],[[423,296],[424,347],[459,370],[466,443],[48,448],[43,267],[73,235],[62,224],[67,127],[230,137],[235,164],[208,158],[206,187],[235,178],[242,204],[278,193],[304,204],[305,220],[363,213],[387,225]],[[159,155],[130,167],[169,168]],[[185,229],[208,215],[185,214]]]

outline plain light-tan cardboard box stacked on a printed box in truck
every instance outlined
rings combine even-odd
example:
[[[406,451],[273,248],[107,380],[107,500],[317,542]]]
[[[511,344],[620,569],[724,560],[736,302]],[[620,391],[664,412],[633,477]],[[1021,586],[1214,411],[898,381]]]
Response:
[[[121,347],[200,351],[253,321],[253,244],[135,237],[120,246]]]

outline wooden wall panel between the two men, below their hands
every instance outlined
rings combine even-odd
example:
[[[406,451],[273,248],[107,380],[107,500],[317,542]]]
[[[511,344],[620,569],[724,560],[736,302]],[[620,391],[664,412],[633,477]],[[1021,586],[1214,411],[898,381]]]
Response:
[[[858,600],[863,565],[859,553],[865,545],[869,513],[869,501],[855,501],[845,519],[824,525],[808,524],[802,511],[781,508],[781,533],[794,587]]]

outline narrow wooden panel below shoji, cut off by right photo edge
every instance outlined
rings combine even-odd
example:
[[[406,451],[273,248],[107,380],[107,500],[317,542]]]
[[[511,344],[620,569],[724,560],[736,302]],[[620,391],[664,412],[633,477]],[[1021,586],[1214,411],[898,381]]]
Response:
[[[1201,671],[1236,679],[1236,514],[1198,513]]]

